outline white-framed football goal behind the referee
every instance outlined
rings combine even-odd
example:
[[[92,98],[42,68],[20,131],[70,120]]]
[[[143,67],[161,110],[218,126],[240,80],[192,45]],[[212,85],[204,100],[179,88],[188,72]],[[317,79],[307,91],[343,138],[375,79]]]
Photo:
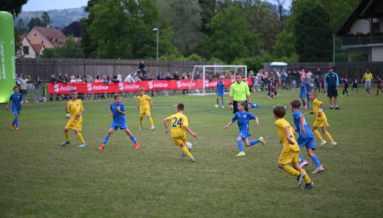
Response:
[[[247,79],[247,65],[194,65],[192,78],[190,78],[189,94],[205,95],[215,92],[216,87],[209,87],[208,83],[219,77],[234,78],[235,73],[243,71]],[[193,89],[194,81],[203,80],[201,90]]]

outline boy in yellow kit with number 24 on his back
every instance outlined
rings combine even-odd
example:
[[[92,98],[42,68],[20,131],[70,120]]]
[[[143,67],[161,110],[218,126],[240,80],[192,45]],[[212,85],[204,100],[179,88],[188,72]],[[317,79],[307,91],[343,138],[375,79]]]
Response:
[[[171,137],[174,140],[174,145],[181,147],[182,157],[187,156],[188,158],[190,158],[190,161],[194,162],[194,157],[189,152],[189,150],[187,150],[186,147],[187,140],[185,130],[192,134],[193,137],[197,137],[197,135],[189,128],[189,122],[187,121],[187,117],[184,115],[185,106],[183,103],[178,103],[177,112],[178,113],[171,115],[170,117],[166,117],[164,119],[165,133],[169,133],[169,121],[171,122]]]

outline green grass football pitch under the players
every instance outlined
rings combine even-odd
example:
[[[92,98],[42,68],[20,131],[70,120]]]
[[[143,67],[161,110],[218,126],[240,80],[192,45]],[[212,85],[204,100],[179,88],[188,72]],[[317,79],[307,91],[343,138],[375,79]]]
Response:
[[[373,92],[375,93],[375,91]],[[11,131],[11,111],[0,106],[0,216],[1,217],[381,217],[383,96],[339,98],[341,110],[325,113],[336,149],[329,146],[315,154],[325,167],[321,174],[308,160],[306,171],[313,190],[295,187],[296,179],[279,169],[282,145],[274,125],[272,106],[298,97],[298,91],[280,92],[276,99],[265,92],[251,94],[260,108],[251,112],[260,126],[250,124],[251,139],[265,137],[267,146],[245,148],[235,157],[237,125],[224,125],[233,117],[226,108],[214,108],[215,97],[155,97],[148,119],[139,131],[135,99],[123,99],[127,124],[140,144],[123,131],[111,135],[106,149],[98,151],[111,124],[111,99],[83,101],[82,135],[88,147],[70,131],[64,140],[65,101],[28,103],[22,108],[20,130]],[[164,133],[163,120],[184,102],[189,127],[197,134],[193,143],[196,162],[181,158]],[[309,125],[315,117],[302,110]],[[291,111],[286,119],[293,125]],[[316,140],[318,144],[318,140]],[[304,157],[307,158],[304,152]]]

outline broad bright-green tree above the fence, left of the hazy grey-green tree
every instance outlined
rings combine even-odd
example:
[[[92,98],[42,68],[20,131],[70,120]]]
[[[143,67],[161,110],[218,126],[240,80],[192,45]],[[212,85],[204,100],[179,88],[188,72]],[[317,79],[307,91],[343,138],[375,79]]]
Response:
[[[110,0],[90,9],[87,32],[97,44],[97,58],[155,58],[159,28],[159,56],[179,53],[171,44],[173,32],[158,6],[149,0]]]

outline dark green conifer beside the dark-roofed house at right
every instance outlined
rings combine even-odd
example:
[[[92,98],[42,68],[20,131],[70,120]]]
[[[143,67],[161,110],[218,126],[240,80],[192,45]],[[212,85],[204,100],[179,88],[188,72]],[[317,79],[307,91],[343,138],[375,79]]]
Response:
[[[329,15],[316,3],[304,7],[295,24],[295,49],[301,62],[326,62],[332,58],[332,37]]]

